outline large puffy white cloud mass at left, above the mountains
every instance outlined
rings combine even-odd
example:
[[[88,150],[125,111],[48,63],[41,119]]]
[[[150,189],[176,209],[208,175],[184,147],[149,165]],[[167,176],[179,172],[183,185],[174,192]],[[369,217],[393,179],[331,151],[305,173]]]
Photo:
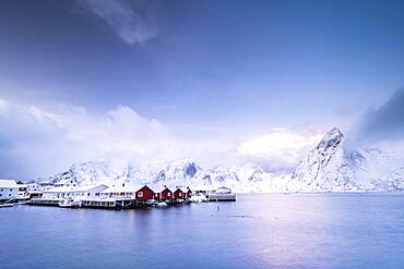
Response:
[[[164,160],[178,152],[156,120],[118,106],[99,115],[83,108],[45,111],[0,99],[1,176],[45,176],[86,160]]]

